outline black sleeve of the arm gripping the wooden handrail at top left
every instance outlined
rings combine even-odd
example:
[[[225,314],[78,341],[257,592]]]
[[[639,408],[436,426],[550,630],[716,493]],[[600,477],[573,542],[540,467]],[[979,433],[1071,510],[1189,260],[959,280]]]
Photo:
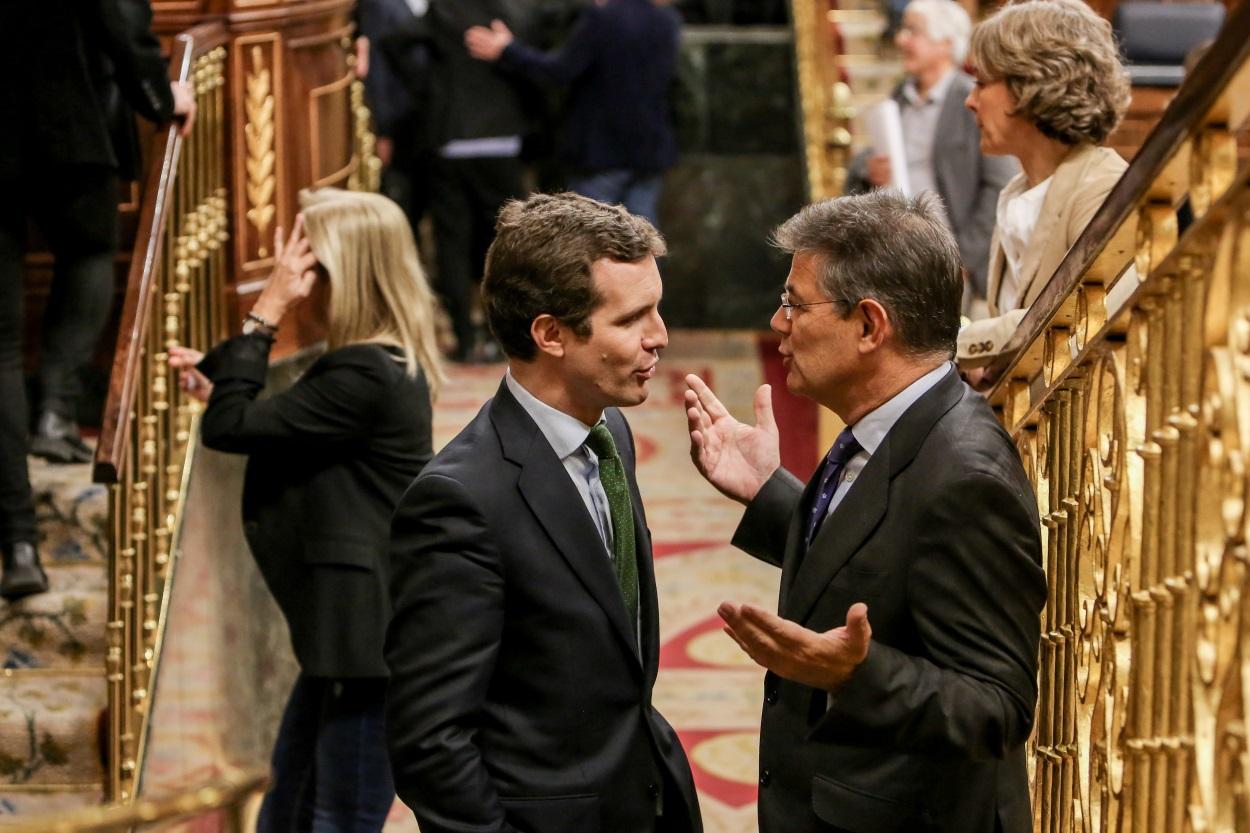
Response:
[[[99,0],[100,44],[112,61],[118,86],[126,103],[156,124],[174,115],[169,68],[152,34],[148,0]]]

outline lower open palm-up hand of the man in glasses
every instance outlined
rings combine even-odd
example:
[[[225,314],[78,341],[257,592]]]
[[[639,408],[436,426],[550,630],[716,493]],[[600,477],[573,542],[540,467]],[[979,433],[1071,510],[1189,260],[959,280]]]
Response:
[[[808,630],[750,604],[722,602],[716,613],[725,633],[756,663],[778,677],[832,692],[850,679],[868,658],[872,627],[868,605],[856,602],[846,612],[846,624],[825,633]]]

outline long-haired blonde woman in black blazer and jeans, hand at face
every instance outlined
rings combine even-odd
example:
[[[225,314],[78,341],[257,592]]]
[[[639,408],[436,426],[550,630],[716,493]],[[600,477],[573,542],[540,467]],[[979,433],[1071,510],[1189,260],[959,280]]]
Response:
[[[258,830],[366,833],[395,799],[382,729],[390,517],[432,455],[441,373],[432,296],[399,206],[329,189],[301,204],[242,334],[206,356],[172,348],[170,364],[208,401],[204,444],[249,455],[244,529],[300,664]],[[322,283],[329,351],[258,399],[276,330],[324,298]]]

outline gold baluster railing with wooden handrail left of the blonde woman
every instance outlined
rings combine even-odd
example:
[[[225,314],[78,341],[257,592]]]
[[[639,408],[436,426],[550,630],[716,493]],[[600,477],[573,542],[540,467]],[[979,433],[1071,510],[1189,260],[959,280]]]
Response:
[[[135,795],[142,760],[171,543],[182,500],[196,404],[169,371],[168,346],[208,348],[222,333],[226,271],[226,31],[198,26],[174,41],[170,76],[195,89],[185,139],[154,143],[122,305],[94,478],[109,484],[105,799]]]

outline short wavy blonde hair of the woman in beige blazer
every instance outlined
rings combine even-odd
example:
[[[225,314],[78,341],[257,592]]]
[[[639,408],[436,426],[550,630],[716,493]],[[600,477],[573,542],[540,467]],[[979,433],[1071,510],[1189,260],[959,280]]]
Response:
[[[972,66],[1004,81],[1015,114],[1064,144],[1100,145],[1129,106],[1111,24],[1081,0],[1002,6],[972,31]]]

